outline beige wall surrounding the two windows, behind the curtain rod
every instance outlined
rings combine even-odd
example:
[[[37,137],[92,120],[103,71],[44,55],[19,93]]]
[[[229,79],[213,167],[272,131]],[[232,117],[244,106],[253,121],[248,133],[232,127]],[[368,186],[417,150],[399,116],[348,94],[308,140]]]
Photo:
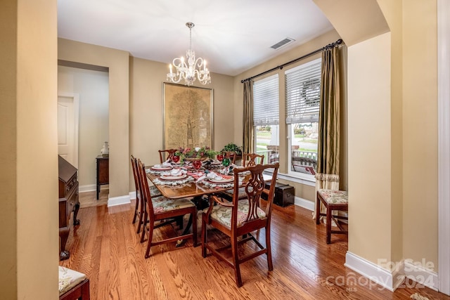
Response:
[[[299,58],[301,56],[306,55],[307,53],[310,53],[312,51],[316,51],[319,48],[322,48],[323,46],[326,46],[327,44],[333,43],[334,41],[337,41],[340,39],[340,36],[335,30],[332,30],[330,32],[327,32],[326,34],[322,34],[320,37],[317,37],[316,39],[313,39],[309,41],[306,44],[303,44],[302,46],[298,46],[296,48],[293,48],[290,51],[287,51],[286,53],[283,53],[279,56],[276,56],[276,58],[273,58],[265,63],[262,63],[261,65],[257,65],[256,67],[253,67],[252,69],[243,72],[242,74],[239,74],[234,78],[234,106],[235,106],[235,124],[234,127],[234,143],[237,145],[242,145],[243,143],[243,122],[242,122],[242,116],[243,116],[243,84],[240,82],[242,79],[247,79],[248,77],[255,76],[256,74],[259,74],[261,72],[264,72],[266,70],[270,70],[273,67],[276,67],[278,65],[282,65],[283,63],[287,63],[290,60],[295,60],[296,58]],[[316,58],[320,58],[321,54],[318,53],[314,56],[311,56],[309,58],[306,58],[304,60],[300,60],[300,62],[297,62],[292,65],[288,65],[283,68],[283,70],[275,70],[274,72],[271,72],[269,74],[265,74],[262,77],[258,77],[258,79],[262,79],[267,76],[271,76],[273,74],[276,74],[278,72],[278,78],[281,82],[281,89],[280,89],[280,123],[284,124],[285,120],[285,91],[283,89],[284,86],[284,72],[286,70],[289,70],[290,68],[296,67],[297,65],[301,65],[303,63],[307,63],[310,60],[314,60]],[[346,99],[345,99],[345,91],[342,91],[342,103],[341,103],[341,110],[342,110],[342,144],[341,144],[341,157],[340,157],[340,164],[341,164],[341,185],[343,187],[347,186],[347,125],[345,122],[345,117],[347,114],[347,108],[346,105]],[[287,126],[280,126],[280,136],[287,136]],[[286,152],[286,155],[280,155],[280,173],[286,174],[288,172],[288,158],[287,158],[287,149],[288,148],[288,141],[287,139],[280,139],[280,152]],[[314,183],[312,185],[304,185],[302,183],[295,183],[293,181],[283,180],[280,179],[279,182],[281,183],[287,183],[290,185],[293,185],[295,188],[295,195],[297,197],[301,197],[305,200],[309,200],[311,202],[314,202],[315,200],[315,186]]]

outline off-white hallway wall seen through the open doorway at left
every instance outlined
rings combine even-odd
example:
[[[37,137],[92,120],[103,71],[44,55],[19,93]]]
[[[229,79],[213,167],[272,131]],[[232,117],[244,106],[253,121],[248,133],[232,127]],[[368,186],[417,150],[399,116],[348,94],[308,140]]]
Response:
[[[95,190],[96,157],[109,141],[108,72],[58,66],[58,93],[79,95],[80,191]]]

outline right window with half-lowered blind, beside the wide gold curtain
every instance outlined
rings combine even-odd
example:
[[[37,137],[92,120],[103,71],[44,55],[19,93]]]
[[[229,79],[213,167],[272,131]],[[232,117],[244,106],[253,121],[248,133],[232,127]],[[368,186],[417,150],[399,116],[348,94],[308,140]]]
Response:
[[[320,58],[285,72],[289,174],[316,174],[320,93]]]

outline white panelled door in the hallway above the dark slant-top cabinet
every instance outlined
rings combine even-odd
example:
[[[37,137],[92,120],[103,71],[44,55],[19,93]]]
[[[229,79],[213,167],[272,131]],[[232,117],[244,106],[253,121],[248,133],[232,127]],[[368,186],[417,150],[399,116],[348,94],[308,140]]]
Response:
[[[78,169],[79,100],[75,93],[58,95],[58,155]]]

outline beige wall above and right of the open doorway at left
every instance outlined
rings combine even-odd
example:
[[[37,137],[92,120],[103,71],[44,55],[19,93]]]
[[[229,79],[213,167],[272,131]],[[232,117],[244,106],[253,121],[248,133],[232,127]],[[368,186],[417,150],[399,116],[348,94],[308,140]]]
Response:
[[[58,59],[109,68],[109,197],[128,197],[124,174],[129,174],[129,53],[58,39]]]

